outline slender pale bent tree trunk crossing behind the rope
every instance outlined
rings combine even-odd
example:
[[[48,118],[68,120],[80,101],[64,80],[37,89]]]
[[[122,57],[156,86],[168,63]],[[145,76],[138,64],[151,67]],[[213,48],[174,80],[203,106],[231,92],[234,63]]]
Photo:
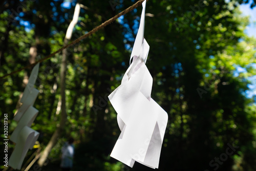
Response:
[[[68,44],[69,40],[71,39],[73,29],[78,22],[79,13],[80,13],[80,5],[77,3],[76,7],[75,7],[73,20],[68,27],[63,46],[66,46]],[[62,131],[64,130],[65,123],[67,121],[66,96],[65,96],[67,56],[68,56],[68,51],[67,51],[67,49],[64,49],[62,51],[62,61],[61,61],[61,67],[60,67],[60,95],[61,95],[60,123],[59,123],[59,126],[57,127],[56,131],[52,135],[50,141],[48,142],[46,148],[42,152],[40,159],[38,160],[38,165],[40,167],[42,167],[44,165],[44,163],[46,162],[47,157],[49,156],[49,154],[51,152],[51,149],[57,143],[57,139],[60,136],[60,134],[62,133]]]

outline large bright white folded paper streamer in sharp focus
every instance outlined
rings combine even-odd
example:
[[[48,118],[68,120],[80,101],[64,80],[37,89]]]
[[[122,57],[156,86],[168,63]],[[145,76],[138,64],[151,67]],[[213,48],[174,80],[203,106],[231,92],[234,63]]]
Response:
[[[117,112],[121,134],[111,157],[133,167],[135,161],[151,168],[158,168],[167,113],[151,98],[153,78],[147,70],[148,46],[144,35],[146,1],[138,34],[131,55],[133,62],[125,72],[121,85],[109,95]]]

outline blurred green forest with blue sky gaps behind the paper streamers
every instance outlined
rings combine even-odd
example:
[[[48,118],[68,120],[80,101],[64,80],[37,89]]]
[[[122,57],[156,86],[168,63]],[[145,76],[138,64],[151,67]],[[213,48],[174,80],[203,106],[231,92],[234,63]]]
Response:
[[[67,44],[65,35],[77,3],[79,20],[70,41],[135,2],[1,1],[0,76]],[[146,64],[154,80],[152,98],[169,119],[158,170],[217,170],[216,165],[225,171],[256,170],[256,97],[248,95],[255,85],[256,39],[244,33],[249,17],[241,15],[238,7],[243,3],[256,5],[245,0],[147,2],[144,36],[150,45]],[[40,93],[34,104],[39,113],[31,126],[40,136],[23,170],[49,142],[49,155],[30,170],[58,170],[60,149],[69,137],[75,138],[73,170],[152,170],[139,163],[129,168],[110,157],[120,130],[117,114],[105,100],[129,67],[141,10],[140,6],[40,63],[35,84]],[[66,84],[61,84],[63,56]],[[9,136],[17,125],[12,119],[31,70],[0,80],[1,130],[8,113]],[[66,101],[61,100],[61,90]],[[237,150],[226,161],[210,165],[226,153],[228,143]],[[14,145],[9,141],[9,155]],[[2,140],[0,148],[3,159]]]

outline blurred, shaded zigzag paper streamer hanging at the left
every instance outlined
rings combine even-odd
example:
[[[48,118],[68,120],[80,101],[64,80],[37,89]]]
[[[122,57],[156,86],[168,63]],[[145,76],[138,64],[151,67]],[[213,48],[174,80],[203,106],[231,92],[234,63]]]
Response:
[[[16,143],[16,145],[8,162],[9,166],[14,169],[20,169],[22,167],[22,163],[28,149],[33,148],[33,145],[39,136],[38,132],[30,128],[38,114],[38,111],[33,107],[35,99],[39,93],[39,91],[34,88],[38,69],[39,63],[37,63],[32,70],[29,82],[26,85],[22,98],[20,99],[20,102],[23,104],[14,116],[14,120],[18,121],[18,124],[13,131],[10,140]]]

